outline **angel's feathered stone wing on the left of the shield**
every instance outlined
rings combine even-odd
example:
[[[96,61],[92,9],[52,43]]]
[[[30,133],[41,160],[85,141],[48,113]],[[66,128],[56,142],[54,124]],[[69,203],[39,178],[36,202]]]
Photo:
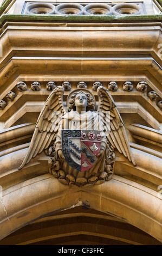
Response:
[[[50,143],[55,140],[60,127],[60,118],[66,114],[62,101],[63,93],[63,87],[56,87],[44,103],[35,126],[33,137],[31,138],[28,153],[18,169],[23,168],[32,157],[40,154],[43,149],[47,149]]]

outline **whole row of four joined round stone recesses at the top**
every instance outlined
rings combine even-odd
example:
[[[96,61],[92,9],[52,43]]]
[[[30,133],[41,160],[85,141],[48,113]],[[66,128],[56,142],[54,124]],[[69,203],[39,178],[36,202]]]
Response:
[[[141,3],[27,3],[24,14],[53,15],[139,15],[144,13]]]

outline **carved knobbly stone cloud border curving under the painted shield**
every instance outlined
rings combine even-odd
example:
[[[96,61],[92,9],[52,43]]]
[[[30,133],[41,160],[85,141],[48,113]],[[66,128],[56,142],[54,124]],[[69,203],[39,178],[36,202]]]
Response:
[[[106,161],[106,167],[104,172],[100,172],[93,175],[90,173],[90,170],[85,172],[75,171],[73,174],[69,173],[69,170],[60,169],[60,162],[55,158],[55,148],[54,145],[48,149],[47,153],[49,157],[48,167],[49,173],[54,175],[62,184],[64,185],[76,185],[76,186],[85,186],[85,185],[100,185],[105,181],[112,179],[114,173],[114,164],[115,164],[115,153],[114,148],[109,143],[108,144],[108,159]]]

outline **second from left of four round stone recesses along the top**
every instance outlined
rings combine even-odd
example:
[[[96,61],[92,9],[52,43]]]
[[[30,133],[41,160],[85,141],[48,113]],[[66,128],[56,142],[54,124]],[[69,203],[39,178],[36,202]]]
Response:
[[[59,4],[56,7],[56,14],[81,15],[84,8],[80,4]]]

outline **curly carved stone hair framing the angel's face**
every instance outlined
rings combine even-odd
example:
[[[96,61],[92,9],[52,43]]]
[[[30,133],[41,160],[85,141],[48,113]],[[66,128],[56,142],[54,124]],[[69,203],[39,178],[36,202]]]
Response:
[[[90,110],[90,111],[93,111],[94,109],[94,106],[95,106],[95,102],[94,102],[94,99],[92,96],[90,96],[90,93],[86,93],[86,92],[83,92],[80,90],[80,92],[75,92],[72,94],[72,96],[70,97],[69,99],[69,110],[76,110],[76,107],[75,107],[75,96],[79,93],[84,93],[87,97],[87,108],[86,108],[86,111]]]

